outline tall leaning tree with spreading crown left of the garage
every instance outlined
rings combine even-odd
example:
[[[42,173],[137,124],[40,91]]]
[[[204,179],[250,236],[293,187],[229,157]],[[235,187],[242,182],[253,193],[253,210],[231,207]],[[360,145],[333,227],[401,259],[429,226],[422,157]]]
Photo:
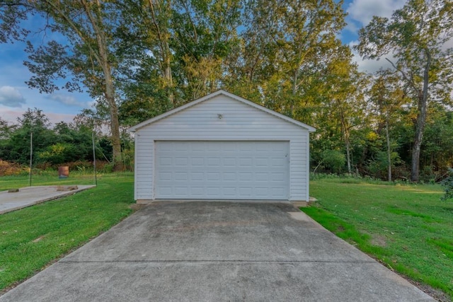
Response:
[[[40,14],[47,23],[46,28],[60,33],[67,40],[65,45],[52,40],[47,45],[34,47],[28,42],[27,51],[31,62],[25,62],[34,74],[28,86],[40,92],[52,93],[59,88],[79,90],[79,81],[84,83],[93,98],[105,102],[110,115],[110,132],[115,169],[122,169],[120,125],[117,112],[115,76],[120,57],[115,55],[115,30],[120,1],[70,1],[15,0],[0,4],[2,27],[13,28],[8,37],[18,38],[20,33],[30,30],[18,29],[21,19],[30,13]],[[5,35],[5,34],[4,34]],[[1,40],[6,41],[6,38]],[[63,87],[55,80],[72,75]]]

